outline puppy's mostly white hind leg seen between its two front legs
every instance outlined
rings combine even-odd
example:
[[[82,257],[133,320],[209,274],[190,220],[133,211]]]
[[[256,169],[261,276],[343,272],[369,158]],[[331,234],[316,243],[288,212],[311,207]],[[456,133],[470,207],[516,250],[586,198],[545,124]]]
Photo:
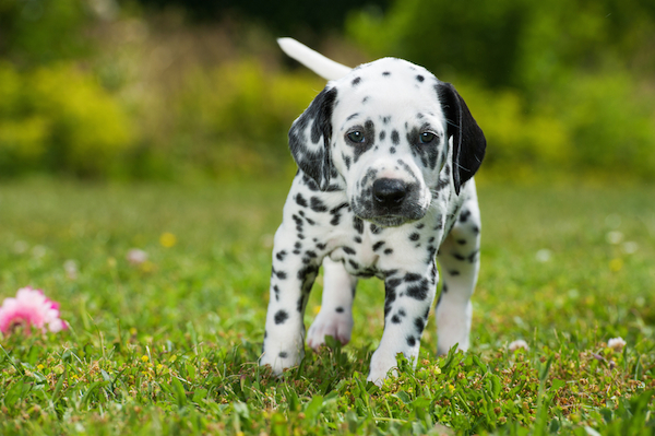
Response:
[[[307,344],[317,350],[331,335],[342,344],[350,341],[353,299],[357,279],[348,274],[342,262],[323,259],[323,297],[321,311],[307,332]]]

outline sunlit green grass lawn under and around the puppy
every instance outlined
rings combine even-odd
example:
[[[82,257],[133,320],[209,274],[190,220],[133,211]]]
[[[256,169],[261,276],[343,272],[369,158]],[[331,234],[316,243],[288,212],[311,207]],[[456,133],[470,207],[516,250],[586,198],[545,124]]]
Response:
[[[0,186],[0,297],[43,288],[71,327],[0,339],[0,434],[655,432],[652,188],[483,187],[472,350],[434,356],[432,319],[417,369],[401,362],[382,388],[366,382],[376,280],[360,282],[350,344],[308,350],[279,379],[255,364],[286,189]],[[146,263],[129,264],[133,247]],[[509,352],[516,339],[529,351]]]

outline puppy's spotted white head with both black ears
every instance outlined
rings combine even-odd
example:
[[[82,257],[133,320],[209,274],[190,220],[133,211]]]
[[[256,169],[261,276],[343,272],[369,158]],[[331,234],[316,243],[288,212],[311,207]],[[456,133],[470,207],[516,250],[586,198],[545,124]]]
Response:
[[[320,189],[345,182],[357,216],[396,226],[426,214],[442,172],[458,195],[486,140],[450,83],[384,58],[327,83],[291,126],[289,146]]]

